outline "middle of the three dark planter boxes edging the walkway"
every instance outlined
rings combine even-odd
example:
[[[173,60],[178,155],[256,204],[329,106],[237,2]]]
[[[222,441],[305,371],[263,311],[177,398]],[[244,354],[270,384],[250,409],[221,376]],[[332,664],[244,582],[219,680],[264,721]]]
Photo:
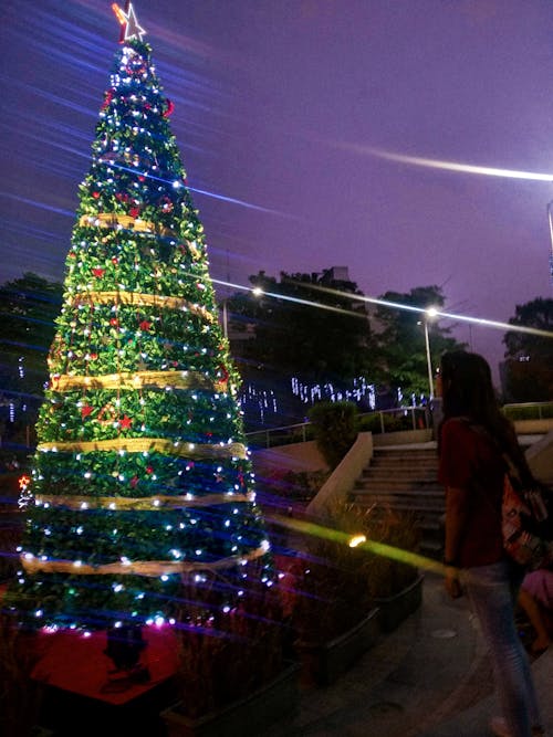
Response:
[[[378,609],[375,608],[358,624],[330,642],[298,642],[302,680],[317,686],[334,683],[373,646],[378,633]]]

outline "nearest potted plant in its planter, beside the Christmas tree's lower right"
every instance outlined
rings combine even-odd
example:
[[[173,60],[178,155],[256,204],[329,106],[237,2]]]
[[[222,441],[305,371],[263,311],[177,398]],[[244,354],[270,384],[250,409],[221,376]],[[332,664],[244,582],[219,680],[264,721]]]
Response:
[[[253,737],[298,708],[278,588],[244,587],[240,606],[229,609],[227,587],[222,573],[184,581],[175,628],[178,701],[161,713],[169,737]]]

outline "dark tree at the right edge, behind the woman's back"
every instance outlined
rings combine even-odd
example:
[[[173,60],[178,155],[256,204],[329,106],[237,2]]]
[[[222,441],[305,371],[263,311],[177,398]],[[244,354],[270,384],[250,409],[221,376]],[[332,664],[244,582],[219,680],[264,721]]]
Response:
[[[518,333],[505,334],[505,394],[509,401],[553,400],[553,299],[536,297],[517,305],[511,325],[546,330],[552,337]]]

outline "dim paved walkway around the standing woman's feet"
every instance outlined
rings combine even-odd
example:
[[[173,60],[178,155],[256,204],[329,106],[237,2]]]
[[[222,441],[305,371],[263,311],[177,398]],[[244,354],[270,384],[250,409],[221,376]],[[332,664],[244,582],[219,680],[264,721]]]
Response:
[[[533,672],[553,737],[553,651]],[[498,714],[491,668],[466,599],[428,575],[422,607],[340,681],[304,688],[290,724],[262,737],[487,737]]]

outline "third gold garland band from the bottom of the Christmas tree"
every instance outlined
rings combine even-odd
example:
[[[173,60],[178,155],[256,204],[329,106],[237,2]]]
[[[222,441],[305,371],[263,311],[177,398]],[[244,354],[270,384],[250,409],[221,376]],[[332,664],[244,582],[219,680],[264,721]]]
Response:
[[[40,443],[38,451],[59,451],[90,453],[93,451],[127,451],[128,453],[164,453],[166,455],[178,455],[186,459],[246,459],[247,450],[242,443],[229,443],[228,445],[215,445],[211,443],[189,443],[187,441],[174,441],[165,438],[115,438],[114,440],[90,440],[90,441],[60,441],[54,443]]]

